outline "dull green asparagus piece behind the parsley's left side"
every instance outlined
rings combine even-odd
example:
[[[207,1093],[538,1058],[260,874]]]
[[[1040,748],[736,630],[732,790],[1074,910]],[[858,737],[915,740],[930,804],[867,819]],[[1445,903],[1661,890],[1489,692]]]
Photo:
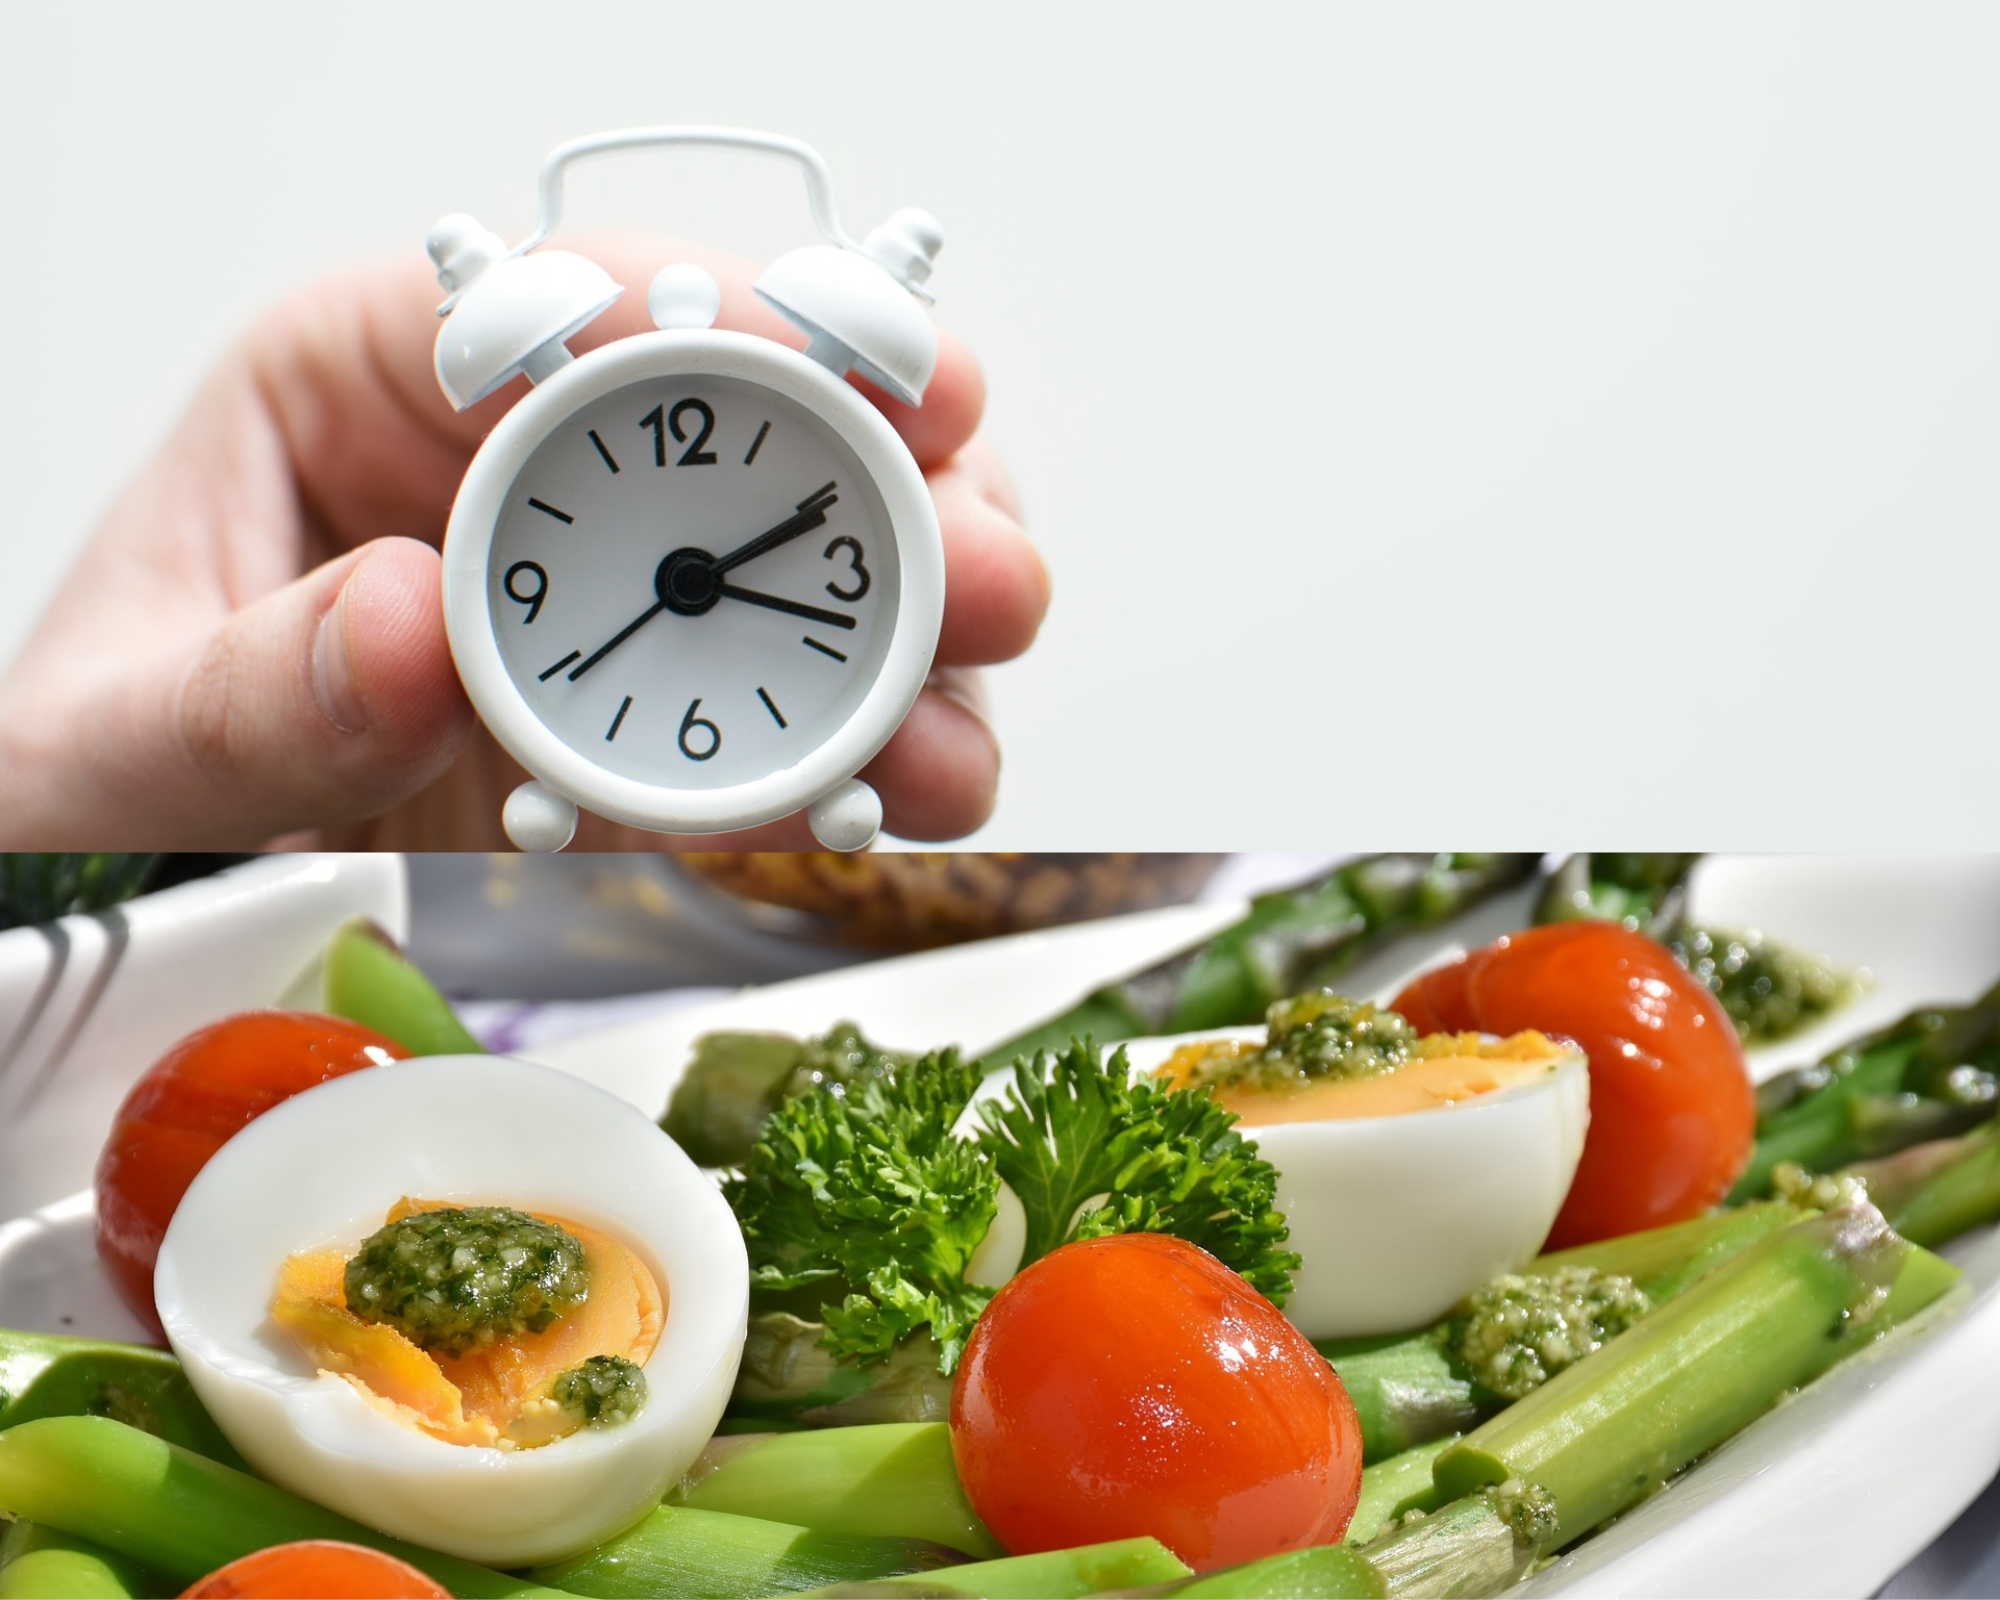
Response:
[[[778,1106],[824,1084],[842,1088],[910,1064],[870,1044],[852,1022],[796,1040],[784,1034],[702,1034],[660,1126],[702,1166],[740,1166]]]

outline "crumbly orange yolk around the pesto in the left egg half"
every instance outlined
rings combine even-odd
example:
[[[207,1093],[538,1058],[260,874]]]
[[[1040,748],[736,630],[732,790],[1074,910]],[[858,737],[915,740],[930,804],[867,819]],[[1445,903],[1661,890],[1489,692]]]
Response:
[[[464,1202],[404,1198],[384,1222],[454,1204]],[[286,1256],[272,1320],[320,1372],[346,1378],[406,1428],[446,1444],[500,1450],[548,1444],[576,1426],[550,1398],[550,1384],[590,1356],[624,1356],[644,1366],[666,1324],[666,1296],[618,1240],[564,1216],[530,1214],[568,1232],[590,1260],[590,1296],[538,1334],[508,1334],[464,1356],[430,1354],[400,1330],[348,1310],[342,1280],[348,1258],[340,1250]]]

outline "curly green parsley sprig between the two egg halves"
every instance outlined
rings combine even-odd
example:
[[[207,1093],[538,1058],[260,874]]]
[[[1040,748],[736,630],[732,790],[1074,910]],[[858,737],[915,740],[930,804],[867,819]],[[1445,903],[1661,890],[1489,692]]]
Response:
[[[724,1186],[750,1246],[752,1310],[798,1312],[810,1296],[828,1354],[864,1364],[928,1332],[952,1372],[994,1294],[966,1274],[1002,1180],[1028,1220],[1022,1264],[1070,1238],[1170,1232],[1274,1300],[1290,1290],[1276,1172],[1206,1094],[1128,1082],[1122,1050],[1104,1062],[1078,1040],[1018,1062],[1014,1098],[984,1102],[978,1132],[956,1138],[980,1076],[946,1050],[790,1100],[764,1124]]]

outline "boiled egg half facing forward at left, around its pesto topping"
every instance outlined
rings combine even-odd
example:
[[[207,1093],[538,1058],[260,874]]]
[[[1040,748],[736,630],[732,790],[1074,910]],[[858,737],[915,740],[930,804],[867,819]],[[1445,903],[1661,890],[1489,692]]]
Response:
[[[330,1354],[344,1338],[334,1324],[348,1316],[340,1262],[394,1210],[410,1210],[406,1200],[566,1224],[588,1248],[590,1296],[534,1340],[568,1338],[582,1350],[588,1336],[574,1318],[586,1310],[616,1324],[620,1348],[592,1354],[640,1366],[636,1412],[552,1442],[522,1426],[504,1438],[486,1424],[426,1420],[404,1404],[414,1388],[380,1366],[362,1362],[362,1378],[326,1370],[356,1366]],[[728,1404],[750,1298],[728,1204],[652,1120],[578,1078],[504,1056],[392,1062],[266,1112],[194,1180],[154,1282],[188,1380],[258,1472],[486,1566],[576,1554],[660,1502]],[[332,1328],[318,1346],[298,1336],[314,1318]],[[358,1326],[388,1334],[380,1322]],[[408,1346],[412,1366],[418,1354]],[[502,1344],[486,1368],[524,1360]],[[436,1366],[456,1372],[452,1360]]]

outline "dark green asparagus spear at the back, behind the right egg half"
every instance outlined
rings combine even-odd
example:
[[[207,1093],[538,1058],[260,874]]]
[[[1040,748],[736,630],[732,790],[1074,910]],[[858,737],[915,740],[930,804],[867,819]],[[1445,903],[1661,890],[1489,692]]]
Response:
[[[1006,1066],[1072,1038],[1104,1044],[1260,1022],[1286,994],[1332,984],[1402,934],[1436,928],[1522,882],[1538,856],[1364,856],[1250,902],[1214,938],[1084,996],[1060,1016],[986,1052]]]

